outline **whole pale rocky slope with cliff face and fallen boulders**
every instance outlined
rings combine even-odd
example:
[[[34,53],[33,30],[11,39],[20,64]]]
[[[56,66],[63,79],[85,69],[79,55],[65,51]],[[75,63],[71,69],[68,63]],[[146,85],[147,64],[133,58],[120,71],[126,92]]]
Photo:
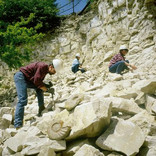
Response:
[[[37,46],[35,61],[61,58],[64,72],[45,79],[56,92],[54,99],[45,93],[48,109],[42,117],[36,116],[37,99],[30,90],[18,131],[12,128],[14,107],[0,108],[0,155],[156,155],[155,2],[99,0],[97,5],[97,11],[69,16],[56,36]],[[123,76],[108,72],[121,44],[129,46],[126,58],[137,66]],[[86,73],[71,72],[77,52]],[[4,76],[13,72],[1,69]],[[14,85],[11,76],[1,80],[3,93]],[[12,90],[8,93],[15,96]]]

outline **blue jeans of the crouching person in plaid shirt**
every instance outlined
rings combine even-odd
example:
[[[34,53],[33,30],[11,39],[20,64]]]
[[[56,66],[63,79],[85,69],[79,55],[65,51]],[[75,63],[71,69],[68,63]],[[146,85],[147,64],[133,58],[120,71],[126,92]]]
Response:
[[[129,63],[128,60],[126,60],[127,63]],[[117,74],[121,74],[122,71],[124,71],[125,69],[129,69],[126,65],[125,65],[125,61],[119,61],[113,65],[111,65],[109,67],[109,71],[111,73],[117,73]]]

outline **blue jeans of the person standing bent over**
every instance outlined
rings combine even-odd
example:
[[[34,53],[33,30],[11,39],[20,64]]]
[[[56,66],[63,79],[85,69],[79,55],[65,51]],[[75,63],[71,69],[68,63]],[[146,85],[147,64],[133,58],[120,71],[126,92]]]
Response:
[[[18,96],[14,120],[14,126],[16,128],[21,127],[23,125],[24,106],[27,105],[27,97],[28,97],[27,88],[33,88],[36,90],[39,106],[44,105],[44,97],[43,91],[37,88],[34,84],[26,81],[25,76],[22,72],[19,71],[14,75],[14,81]]]

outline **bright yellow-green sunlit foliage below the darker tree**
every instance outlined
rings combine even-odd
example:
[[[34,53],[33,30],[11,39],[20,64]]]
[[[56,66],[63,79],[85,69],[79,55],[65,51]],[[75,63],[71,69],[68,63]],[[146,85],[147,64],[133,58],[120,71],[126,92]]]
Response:
[[[27,20],[21,18],[20,22],[8,25],[5,32],[0,32],[0,58],[10,68],[16,68],[30,59],[31,46],[44,35],[36,33],[42,25],[37,24],[34,28],[26,28],[25,25],[33,20],[34,14],[30,14]]]

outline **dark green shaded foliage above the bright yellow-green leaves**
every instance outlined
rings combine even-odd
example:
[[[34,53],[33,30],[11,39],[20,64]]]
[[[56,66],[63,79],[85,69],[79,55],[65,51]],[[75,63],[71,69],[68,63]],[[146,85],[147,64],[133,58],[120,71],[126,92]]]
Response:
[[[42,23],[40,31],[46,31],[59,24],[59,18],[56,16],[58,9],[56,0],[1,0],[0,2],[0,21],[13,23],[20,21],[21,17],[27,18],[30,13],[35,17],[29,27],[36,23]]]

